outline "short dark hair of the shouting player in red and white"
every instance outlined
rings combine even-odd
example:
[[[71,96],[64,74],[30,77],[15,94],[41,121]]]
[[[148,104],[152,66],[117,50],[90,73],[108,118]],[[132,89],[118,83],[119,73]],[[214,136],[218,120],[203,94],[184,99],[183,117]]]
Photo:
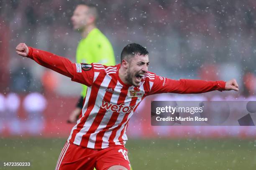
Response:
[[[129,60],[134,55],[148,55],[148,50],[142,45],[131,43],[126,45],[121,52],[121,62],[123,60]]]

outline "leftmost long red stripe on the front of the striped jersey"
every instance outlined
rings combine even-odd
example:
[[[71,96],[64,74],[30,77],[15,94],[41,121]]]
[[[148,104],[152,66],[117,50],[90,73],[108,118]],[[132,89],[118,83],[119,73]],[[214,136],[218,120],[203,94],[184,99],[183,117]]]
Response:
[[[102,81],[104,80],[105,75],[106,75],[106,73],[101,73],[100,72],[100,74],[96,78],[95,82],[93,83],[91,94],[90,94],[90,97],[89,97],[89,100],[88,100],[87,110],[84,113],[84,116],[81,118],[81,121],[77,125],[77,128],[73,131],[72,137],[69,140],[69,142],[74,143],[74,139],[75,139],[77,133],[79,133],[80,130],[84,127],[84,123],[86,122],[87,118],[90,115],[90,112],[93,109],[93,106],[95,105],[96,97],[97,97],[98,91],[100,89],[100,85],[101,85]],[[82,138],[82,140],[89,140],[89,139],[83,139]],[[82,143],[82,141],[81,141],[81,143]]]

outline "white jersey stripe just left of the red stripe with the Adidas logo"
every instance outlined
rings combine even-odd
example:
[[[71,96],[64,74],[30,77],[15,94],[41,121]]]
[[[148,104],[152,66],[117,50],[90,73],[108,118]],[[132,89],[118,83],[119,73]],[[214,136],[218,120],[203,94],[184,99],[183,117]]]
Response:
[[[111,80],[111,77],[109,77],[108,75],[105,75],[105,77],[100,85],[99,91],[97,93],[95,105],[93,106],[92,110],[90,111],[90,115],[87,117],[87,120],[84,123],[83,128],[79,131],[79,133],[77,133],[75,140],[74,140],[74,144],[80,145],[82,136],[84,134],[86,134],[87,131],[90,129],[93,121],[95,120],[97,113],[100,110],[100,106],[102,104],[102,98],[104,97],[104,95],[106,93],[106,88],[108,88],[110,80]],[[87,140],[87,139],[85,139],[85,140]],[[87,147],[87,148],[89,148],[89,147]]]

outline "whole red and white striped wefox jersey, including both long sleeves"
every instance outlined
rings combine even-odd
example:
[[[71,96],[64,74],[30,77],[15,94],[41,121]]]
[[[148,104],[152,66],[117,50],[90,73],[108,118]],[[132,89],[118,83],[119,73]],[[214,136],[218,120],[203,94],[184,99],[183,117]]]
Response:
[[[201,93],[225,88],[223,81],[171,80],[153,72],[147,72],[139,86],[134,87],[120,80],[120,64],[75,64],[64,57],[32,47],[29,47],[28,57],[88,86],[82,115],[67,140],[87,148],[102,149],[124,145],[128,122],[147,95],[164,92]]]

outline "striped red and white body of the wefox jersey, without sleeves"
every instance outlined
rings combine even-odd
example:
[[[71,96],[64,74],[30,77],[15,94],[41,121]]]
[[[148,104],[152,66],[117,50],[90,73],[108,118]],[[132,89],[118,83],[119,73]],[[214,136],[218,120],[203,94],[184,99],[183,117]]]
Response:
[[[68,142],[95,149],[125,144],[128,121],[141,100],[149,94],[155,74],[146,73],[139,87],[134,87],[119,79],[119,67],[92,63],[91,70],[81,72],[93,80],[85,82],[88,88],[82,117],[72,129]],[[81,77],[74,80],[76,78]]]

